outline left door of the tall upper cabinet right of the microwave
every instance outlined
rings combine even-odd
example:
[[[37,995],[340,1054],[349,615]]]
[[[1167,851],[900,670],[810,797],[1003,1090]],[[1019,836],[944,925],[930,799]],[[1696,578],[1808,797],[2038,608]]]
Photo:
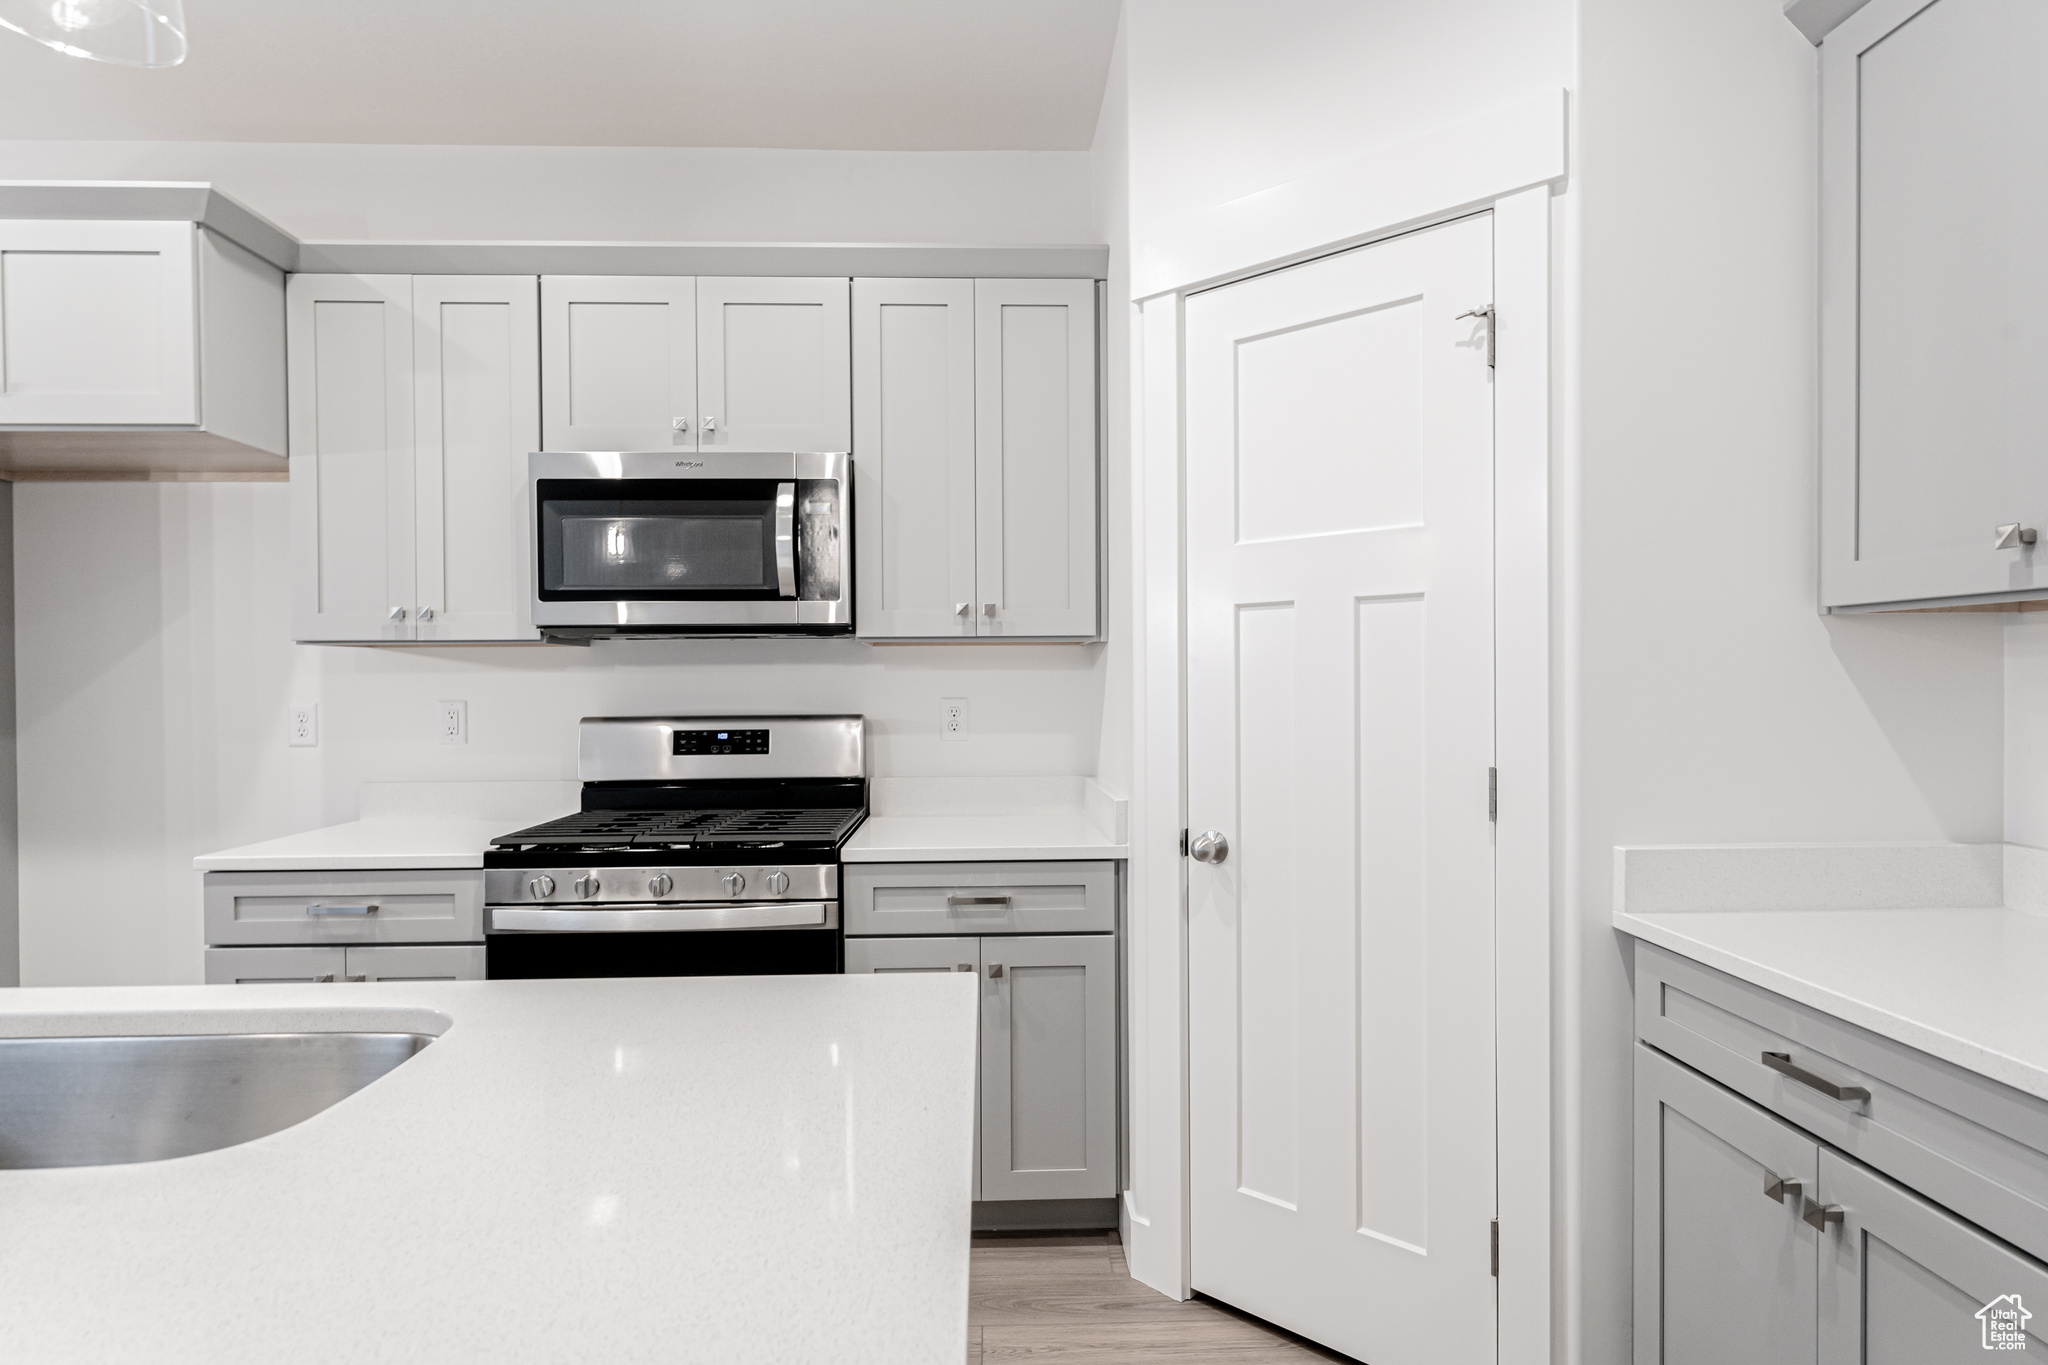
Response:
[[[975,282],[854,280],[854,620],[975,634]]]

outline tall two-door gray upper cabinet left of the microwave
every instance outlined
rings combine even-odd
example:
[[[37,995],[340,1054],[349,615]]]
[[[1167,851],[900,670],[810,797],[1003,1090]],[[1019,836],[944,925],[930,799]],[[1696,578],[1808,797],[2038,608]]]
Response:
[[[291,276],[293,639],[537,639],[535,313],[535,276]]]

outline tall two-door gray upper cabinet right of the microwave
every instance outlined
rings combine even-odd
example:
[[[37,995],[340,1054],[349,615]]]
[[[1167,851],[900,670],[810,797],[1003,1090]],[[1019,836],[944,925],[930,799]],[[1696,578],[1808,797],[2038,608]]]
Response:
[[[856,280],[858,628],[1094,639],[1096,284]]]

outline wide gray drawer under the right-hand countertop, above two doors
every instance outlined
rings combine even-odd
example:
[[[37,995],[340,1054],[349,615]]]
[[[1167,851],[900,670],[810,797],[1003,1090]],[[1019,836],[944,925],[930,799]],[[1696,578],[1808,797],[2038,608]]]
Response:
[[[2048,1257],[2048,1101],[1640,941],[1636,1036]]]

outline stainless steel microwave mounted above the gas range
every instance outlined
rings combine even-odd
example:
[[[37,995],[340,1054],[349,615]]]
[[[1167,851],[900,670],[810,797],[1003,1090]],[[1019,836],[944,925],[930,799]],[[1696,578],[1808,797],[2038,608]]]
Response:
[[[846,454],[526,456],[532,624],[549,639],[852,634]]]

